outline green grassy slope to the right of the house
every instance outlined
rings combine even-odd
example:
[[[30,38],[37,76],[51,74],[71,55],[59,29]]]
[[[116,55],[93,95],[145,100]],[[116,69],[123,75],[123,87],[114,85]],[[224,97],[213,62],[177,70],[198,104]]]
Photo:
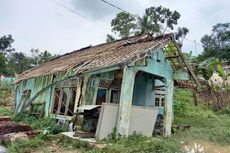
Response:
[[[230,145],[229,111],[214,112],[204,103],[193,106],[192,92],[189,90],[176,90],[174,125],[191,126],[190,129],[173,135],[178,141],[203,139],[220,145]]]

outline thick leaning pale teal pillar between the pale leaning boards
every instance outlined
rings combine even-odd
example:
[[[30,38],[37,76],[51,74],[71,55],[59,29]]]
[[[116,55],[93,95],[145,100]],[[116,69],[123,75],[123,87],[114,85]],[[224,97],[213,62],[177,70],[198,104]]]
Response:
[[[121,85],[117,134],[128,136],[136,70],[124,67]]]

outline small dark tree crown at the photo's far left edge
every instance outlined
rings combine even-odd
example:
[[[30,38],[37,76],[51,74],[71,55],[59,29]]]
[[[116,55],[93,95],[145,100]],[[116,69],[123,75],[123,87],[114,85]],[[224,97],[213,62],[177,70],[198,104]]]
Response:
[[[12,35],[0,37],[0,52],[6,54],[14,51],[11,44],[14,42]]]

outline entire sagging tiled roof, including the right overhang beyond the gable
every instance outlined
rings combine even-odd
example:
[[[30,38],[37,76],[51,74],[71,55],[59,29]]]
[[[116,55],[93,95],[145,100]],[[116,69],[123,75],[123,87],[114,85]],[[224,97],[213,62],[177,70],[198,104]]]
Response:
[[[174,70],[185,70],[196,81],[196,77],[184,60],[172,34],[158,37],[151,35],[134,36],[111,43],[88,46],[59,56],[38,67],[24,71],[17,76],[17,82],[73,69],[75,74],[119,66],[142,59],[153,50],[163,48],[166,58]],[[197,81],[196,81],[197,82]]]

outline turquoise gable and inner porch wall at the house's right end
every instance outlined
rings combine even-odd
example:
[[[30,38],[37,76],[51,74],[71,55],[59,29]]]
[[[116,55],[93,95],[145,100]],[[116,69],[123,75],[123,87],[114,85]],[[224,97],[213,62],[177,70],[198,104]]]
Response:
[[[166,59],[162,50],[156,50],[149,56],[147,66],[135,66],[134,69],[152,74],[152,76],[145,75],[135,78],[133,105],[154,106],[153,86],[155,81],[153,78],[154,76],[160,76],[165,80],[172,80],[173,69],[171,64]],[[156,85],[160,84],[162,85],[159,81],[156,82]],[[164,114],[163,107],[159,107],[159,113]]]

